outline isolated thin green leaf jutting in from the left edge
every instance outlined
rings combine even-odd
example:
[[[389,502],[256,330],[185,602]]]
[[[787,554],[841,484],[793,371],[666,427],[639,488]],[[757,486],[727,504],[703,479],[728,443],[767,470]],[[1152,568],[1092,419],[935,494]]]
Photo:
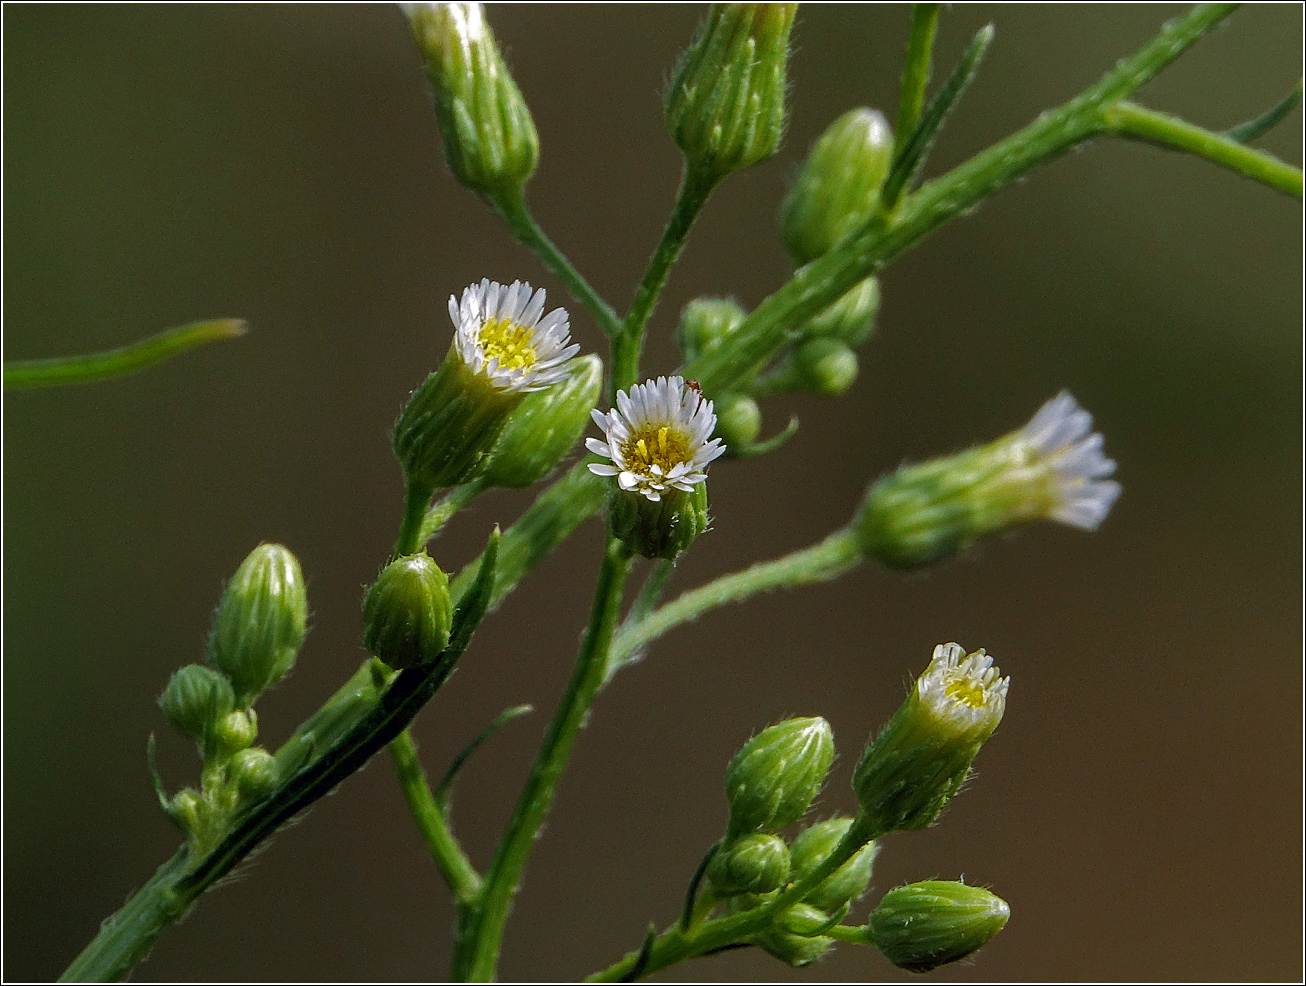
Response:
[[[138,374],[141,370],[180,355],[188,349],[202,346],[205,342],[244,336],[247,330],[248,325],[242,319],[214,319],[213,321],[197,321],[166,329],[157,336],[149,336],[138,342],[103,353],[16,360],[4,364],[4,387],[7,390],[20,390],[29,387],[111,380],[128,374]]]

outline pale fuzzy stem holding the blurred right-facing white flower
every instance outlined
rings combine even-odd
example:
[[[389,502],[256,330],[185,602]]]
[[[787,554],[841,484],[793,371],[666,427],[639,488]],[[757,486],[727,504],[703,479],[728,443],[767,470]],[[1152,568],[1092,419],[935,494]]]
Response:
[[[679,596],[643,619],[628,622],[613,641],[611,670],[615,674],[640,649],[682,623],[697,619],[708,610],[727,602],[743,602],[751,596],[772,589],[814,585],[838,579],[862,560],[857,539],[848,530],[836,530],[824,541],[794,551],[784,558],[724,575],[697,589]]]

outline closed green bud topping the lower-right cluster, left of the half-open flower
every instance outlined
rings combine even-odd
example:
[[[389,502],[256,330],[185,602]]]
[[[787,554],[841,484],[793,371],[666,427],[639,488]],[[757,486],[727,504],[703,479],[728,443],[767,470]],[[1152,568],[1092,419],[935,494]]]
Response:
[[[835,761],[823,718],[793,718],[750,739],[726,768],[731,837],[778,832],[807,814]]]

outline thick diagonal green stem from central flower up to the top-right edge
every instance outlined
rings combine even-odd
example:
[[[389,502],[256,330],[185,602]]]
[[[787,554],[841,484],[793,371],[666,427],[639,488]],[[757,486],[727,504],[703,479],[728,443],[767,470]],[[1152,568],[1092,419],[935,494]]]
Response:
[[[949,219],[1077,144],[1102,133],[1102,110],[1156,76],[1234,10],[1234,4],[1202,4],[1175,18],[1096,85],[1042,114],[1011,137],[976,154],[906,196],[892,221],[878,217],[841,240],[829,253],[801,268],[759,304],[731,334],[731,345],[692,359],[684,376],[722,393],[759,372],[789,342],[794,326],[832,304],[858,281],[883,269]]]

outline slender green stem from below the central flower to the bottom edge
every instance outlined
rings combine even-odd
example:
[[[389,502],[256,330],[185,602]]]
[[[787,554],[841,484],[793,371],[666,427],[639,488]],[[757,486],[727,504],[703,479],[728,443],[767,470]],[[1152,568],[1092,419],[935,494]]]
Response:
[[[558,782],[589,716],[589,708],[603,684],[607,652],[616,629],[629,567],[628,551],[610,537],[576,670],[495,853],[494,863],[486,872],[485,892],[477,912],[461,930],[462,934],[454,946],[456,979],[488,982],[495,976],[504,923],[521,883],[521,874],[526,868],[530,849],[552,804]]]

